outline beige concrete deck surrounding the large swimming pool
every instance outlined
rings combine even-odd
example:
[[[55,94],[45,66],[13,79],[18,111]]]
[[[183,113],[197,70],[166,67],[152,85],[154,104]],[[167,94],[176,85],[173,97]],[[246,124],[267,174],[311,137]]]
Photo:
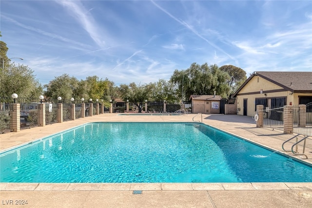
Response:
[[[105,113],[0,134],[0,151],[43,138],[88,122],[193,122],[195,114],[168,116],[129,116]],[[282,143],[292,134],[256,128],[249,116],[202,114],[203,123],[230,132],[273,151],[282,151]],[[197,115],[195,121],[200,121]],[[293,143],[285,147],[290,150]],[[235,147],[233,147],[235,148]],[[302,146],[298,149],[302,152]],[[312,140],[307,140],[305,153],[312,164]],[[293,156],[289,152],[285,152]],[[141,194],[134,194],[141,190]],[[20,200],[20,201],[19,201]],[[121,183],[121,184],[45,184],[0,183],[0,207],[19,207],[27,200],[31,208],[100,208],[100,207],[178,207],[178,208],[308,208],[312,207],[311,183]]]

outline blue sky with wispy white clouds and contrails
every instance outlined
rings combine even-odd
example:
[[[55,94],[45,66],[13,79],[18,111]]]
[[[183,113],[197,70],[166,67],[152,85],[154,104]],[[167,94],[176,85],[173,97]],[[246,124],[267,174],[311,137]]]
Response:
[[[312,71],[312,1],[1,0],[1,40],[42,84],[66,73],[119,84],[193,62]]]

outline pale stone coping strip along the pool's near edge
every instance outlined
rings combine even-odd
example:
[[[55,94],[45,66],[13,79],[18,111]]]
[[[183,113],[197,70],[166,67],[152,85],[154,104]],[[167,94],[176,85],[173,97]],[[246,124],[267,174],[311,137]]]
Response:
[[[312,190],[312,182],[252,183],[0,183],[0,191]]]

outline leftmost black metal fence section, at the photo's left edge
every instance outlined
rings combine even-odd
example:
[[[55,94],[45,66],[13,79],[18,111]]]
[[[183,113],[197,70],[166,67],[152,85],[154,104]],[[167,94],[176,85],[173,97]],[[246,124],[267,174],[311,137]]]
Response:
[[[0,97],[0,133],[11,131],[11,97]]]

